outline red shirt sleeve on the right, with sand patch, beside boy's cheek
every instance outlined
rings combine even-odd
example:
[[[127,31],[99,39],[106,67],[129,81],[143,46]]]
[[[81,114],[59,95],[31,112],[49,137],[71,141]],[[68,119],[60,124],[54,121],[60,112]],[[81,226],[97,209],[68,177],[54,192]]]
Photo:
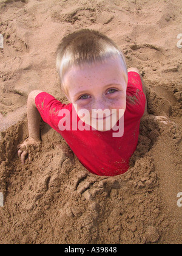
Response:
[[[146,97],[143,93],[143,85],[140,79],[140,75],[136,72],[128,73],[127,84],[127,108],[133,116],[142,117],[146,105]]]

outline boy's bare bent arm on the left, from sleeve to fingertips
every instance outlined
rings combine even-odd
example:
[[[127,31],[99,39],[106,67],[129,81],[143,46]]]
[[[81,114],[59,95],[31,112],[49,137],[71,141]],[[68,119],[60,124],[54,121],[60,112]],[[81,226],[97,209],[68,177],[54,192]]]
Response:
[[[32,91],[29,94],[27,100],[27,118],[28,118],[28,127],[29,127],[29,138],[27,138],[22,144],[18,146],[18,157],[21,157],[21,162],[24,165],[25,157],[29,154],[29,146],[35,145],[38,146],[41,142],[40,139],[40,120],[41,115],[38,112],[38,109],[35,105],[36,96],[41,93],[40,90]],[[31,160],[29,154],[29,161]]]

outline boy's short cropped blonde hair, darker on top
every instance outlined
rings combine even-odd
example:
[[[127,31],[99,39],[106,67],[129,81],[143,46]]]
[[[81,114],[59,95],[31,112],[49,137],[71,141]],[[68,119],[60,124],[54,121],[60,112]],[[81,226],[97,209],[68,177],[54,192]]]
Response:
[[[56,68],[64,91],[66,91],[63,85],[64,75],[73,65],[83,67],[96,62],[104,63],[110,58],[121,60],[127,85],[127,65],[123,52],[110,38],[96,30],[82,29],[62,38],[56,55]]]

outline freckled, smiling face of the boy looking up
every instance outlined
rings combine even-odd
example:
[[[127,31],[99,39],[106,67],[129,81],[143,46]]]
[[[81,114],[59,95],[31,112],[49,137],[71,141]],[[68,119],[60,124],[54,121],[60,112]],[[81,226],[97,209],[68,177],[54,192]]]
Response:
[[[123,116],[126,110],[126,81],[119,59],[109,59],[107,63],[85,65],[84,68],[73,66],[64,77],[67,98],[76,104],[76,112],[84,123],[97,130],[110,130]],[[81,114],[80,110],[87,110]],[[106,111],[103,118],[93,113]],[[119,111],[123,110],[123,112]],[[102,116],[102,115],[101,115]],[[103,129],[98,124],[103,122]],[[108,126],[109,124],[109,126]],[[109,127],[109,128],[108,128]]]

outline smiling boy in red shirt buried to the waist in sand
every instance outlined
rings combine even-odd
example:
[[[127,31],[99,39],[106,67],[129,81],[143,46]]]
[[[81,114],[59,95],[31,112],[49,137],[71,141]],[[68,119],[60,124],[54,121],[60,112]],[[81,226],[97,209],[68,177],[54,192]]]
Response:
[[[56,67],[62,90],[71,103],[62,104],[39,90],[29,94],[29,138],[18,151],[22,164],[29,154],[29,145],[41,141],[42,117],[64,137],[88,171],[99,176],[123,174],[129,169],[138,143],[140,119],[146,113],[146,96],[138,69],[127,69],[116,44],[106,35],[89,29],[62,39]],[[99,112],[104,113],[102,118]],[[117,135],[116,129],[122,126],[124,131]]]

